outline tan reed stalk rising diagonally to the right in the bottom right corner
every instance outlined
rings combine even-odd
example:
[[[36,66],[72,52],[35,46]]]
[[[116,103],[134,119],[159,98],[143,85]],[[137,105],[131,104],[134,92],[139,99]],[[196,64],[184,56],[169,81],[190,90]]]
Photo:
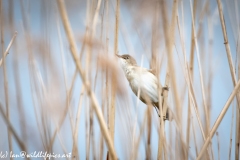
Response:
[[[211,141],[214,133],[216,132],[216,130],[217,130],[218,126],[220,125],[223,117],[225,116],[225,114],[226,114],[226,112],[227,112],[227,110],[228,110],[228,108],[229,108],[233,98],[238,93],[239,87],[240,87],[240,81],[238,81],[237,85],[234,87],[234,90],[232,91],[232,93],[229,96],[226,104],[224,105],[221,113],[219,114],[217,120],[215,121],[215,123],[214,123],[214,125],[213,125],[213,127],[212,127],[212,129],[211,129],[211,131],[210,131],[206,141],[204,142],[204,145],[203,145],[203,147],[202,147],[198,157],[197,157],[198,160],[203,156],[203,153],[205,152],[206,148],[208,147],[209,142]]]

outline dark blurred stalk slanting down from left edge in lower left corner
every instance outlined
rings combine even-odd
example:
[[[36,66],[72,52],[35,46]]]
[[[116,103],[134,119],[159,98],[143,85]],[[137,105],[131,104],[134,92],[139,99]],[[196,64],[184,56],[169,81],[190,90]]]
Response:
[[[21,148],[22,151],[27,151],[26,150],[26,146],[24,145],[24,143],[21,141],[20,137],[17,135],[17,132],[15,131],[14,127],[12,126],[9,118],[6,116],[6,114],[4,113],[4,109],[2,104],[0,103],[0,112],[2,115],[3,120],[5,121],[8,129],[11,131],[13,137],[15,138],[17,144],[19,145],[19,147]]]

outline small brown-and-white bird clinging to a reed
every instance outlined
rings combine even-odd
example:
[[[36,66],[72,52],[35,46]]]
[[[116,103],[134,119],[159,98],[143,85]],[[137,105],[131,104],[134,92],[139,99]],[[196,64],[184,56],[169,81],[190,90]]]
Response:
[[[136,60],[130,55],[117,55],[117,57],[120,59],[121,67],[134,94],[138,96],[139,91],[140,100],[145,104],[151,103],[157,111],[159,106],[158,89],[168,88],[161,87],[154,73],[151,70],[139,67]],[[160,117],[158,111],[157,113]],[[163,118],[164,120],[169,120],[169,117],[169,110],[167,110],[166,116]]]

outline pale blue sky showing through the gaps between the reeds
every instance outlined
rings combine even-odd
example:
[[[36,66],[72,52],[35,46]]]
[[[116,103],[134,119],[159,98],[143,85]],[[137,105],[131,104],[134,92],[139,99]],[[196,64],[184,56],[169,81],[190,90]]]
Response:
[[[67,88],[69,89],[72,76],[75,71],[75,64],[72,59],[69,44],[66,39],[65,31],[62,26],[60,15],[58,12],[56,1],[15,1],[13,0],[13,9],[10,10],[10,1],[3,0],[3,11],[4,11],[4,50],[6,49],[12,35],[13,30],[18,32],[17,38],[11,47],[10,54],[6,57],[6,67],[7,67],[7,77],[8,77],[8,90],[9,90],[9,107],[10,107],[10,120],[14,126],[18,135],[22,138],[24,143],[27,146],[28,152],[44,150],[44,145],[41,140],[41,135],[36,121],[36,113],[34,111],[34,106],[37,108],[37,115],[44,115],[46,122],[40,121],[40,126],[42,124],[47,124],[49,127],[49,133],[53,133],[56,125],[55,122],[59,121],[63,108],[66,103],[66,88],[64,84],[64,75],[62,69],[62,58],[61,58],[61,46],[58,38],[57,24],[60,25],[60,31],[62,36],[62,47],[63,47],[63,57],[64,63],[66,65],[66,74],[67,74]],[[22,2],[22,9],[21,9]],[[104,1],[105,2],[105,1]],[[171,17],[171,3],[168,1],[168,12],[169,18]],[[103,3],[103,2],[102,2]],[[202,23],[199,20],[200,13],[206,2],[199,1],[197,5],[197,14],[196,14],[196,29],[198,30],[200,24],[202,24],[202,32],[198,37],[199,43],[199,54],[201,57],[202,70],[204,75],[204,84],[205,91],[207,91],[207,83],[209,73],[212,71],[212,91],[211,93],[211,118],[210,126],[212,127],[215,120],[217,119],[219,113],[221,112],[224,104],[226,103],[231,91],[233,90],[233,83],[230,74],[230,69],[228,65],[228,59],[226,55],[225,46],[223,44],[223,34],[221,29],[221,24],[218,16],[217,2],[214,0],[209,1],[209,12],[205,13]],[[225,17],[225,23],[227,27],[228,39],[231,48],[232,58],[235,66],[235,62],[238,63],[237,53],[237,43],[238,43],[238,30],[239,28],[239,2],[238,1],[223,1],[223,12]],[[237,3],[237,4],[234,4]],[[82,39],[85,33],[85,27],[87,25],[87,1],[66,1],[65,2],[68,17],[71,23],[71,27],[74,32],[76,43],[78,45],[78,51],[80,52],[82,46]],[[154,15],[154,2],[153,1],[120,1],[120,28],[119,28],[119,54],[129,53],[142,66],[149,68],[149,62],[151,58],[151,30],[152,30],[152,20]],[[191,45],[191,11],[188,0],[179,1],[178,13],[180,23],[182,22],[182,10],[181,5],[183,6],[184,13],[184,41],[186,45],[187,59],[189,61],[190,56],[190,45]],[[114,27],[115,27],[115,1],[109,0],[109,54],[110,61],[113,61],[112,57],[114,55]],[[102,6],[103,7],[103,6]],[[11,25],[10,11],[13,13],[13,22],[14,25]],[[105,56],[105,39],[106,39],[106,15],[104,17],[105,21],[103,24],[103,40],[100,39],[101,33],[101,18],[102,10],[100,10],[99,20],[96,27],[96,44],[99,46],[94,46],[93,49],[93,60],[92,60],[92,82],[94,82],[95,72],[97,71],[96,59],[97,55],[100,57]],[[23,14],[26,15],[26,20],[24,19]],[[160,12],[161,14],[161,12]],[[229,18],[231,17],[231,18]],[[165,49],[165,39],[163,35],[162,28],[162,16],[159,15],[160,25],[160,40],[158,42],[159,57],[163,57],[163,64],[160,69],[160,81],[164,84],[165,74],[167,68],[167,57]],[[209,26],[212,25],[212,32],[209,32]],[[210,46],[209,46],[209,37],[212,34],[212,56],[210,58]],[[29,44],[27,43],[27,36],[30,36],[31,39],[31,48],[32,55],[34,57],[35,67],[31,68],[29,63]],[[145,46],[143,46],[144,44]],[[176,70],[177,79],[176,82],[178,86],[178,94],[182,98],[182,117],[183,117],[183,135],[186,134],[186,120],[187,120],[187,86],[185,84],[185,79],[183,71],[181,68],[181,63],[179,61],[176,50],[178,51],[179,57],[183,60],[182,48],[179,38],[179,32],[176,27],[175,31],[175,44],[176,49],[174,48],[173,57],[174,57],[174,66]],[[196,53],[196,52],[195,52]],[[84,52],[83,60],[81,61],[82,66],[85,66],[86,62],[86,50]],[[2,53],[0,54],[2,57]],[[143,60],[142,60],[143,57]],[[237,60],[236,60],[237,57]],[[117,62],[114,64],[117,64]],[[31,74],[31,69],[36,74]],[[37,71],[37,72],[36,72]],[[121,70],[118,68],[118,81],[122,82],[120,87],[124,91],[124,95],[117,94],[116,100],[116,122],[115,122],[115,148],[119,159],[129,159],[130,158],[130,142],[132,140],[133,126],[135,124],[135,115],[137,113],[137,130],[135,137],[138,137],[139,128],[143,123],[144,113],[146,111],[146,105],[142,102],[137,102],[136,96],[132,93],[128,82],[122,74]],[[237,70],[238,71],[238,70]],[[236,71],[236,72],[237,72]],[[18,75],[19,78],[16,77]],[[42,77],[39,79],[39,76]],[[32,84],[31,79],[36,79],[35,87]],[[17,83],[20,86],[20,92],[17,92]],[[101,74],[97,79],[97,87],[95,89],[95,94],[99,101],[99,104],[103,102],[103,80],[101,79]],[[82,87],[82,81],[79,76],[77,76],[73,97],[70,101],[70,113],[73,114],[73,117],[76,116],[79,95]],[[45,89],[45,90],[44,90]],[[202,122],[204,121],[203,115],[203,102],[201,95],[201,86],[199,78],[199,69],[197,65],[197,59],[195,55],[194,59],[194,89],[197,98],[197,106],[201,115]],[[20,99],[20,101],[17,100]],[[106,98],[106,97],[105,97]],[[170,87],[168,104],[171,108],[174,106],[174,97],[172,95],[172,90]],[[4,78],[3,78],[3,67],[0,67],[0,102],[5,107],[5,93],[4,93]],[[137,103],[139,103],[137,105]],[[23,113],[19,112],[18,107],[23,107]],[[86,119],[89,116],[89,102],[87,97],[84,96],[80,124],[79,124],[79,135],[78,135],[78,151],[80,159],[86,159],[86,125],[88,122]],[[234,159],[234,142],[235,142],[235,126],[236,126],[236,102],[232,103],[228,112],[226,113],[222,123],[218,128],[219,133],[219,143],[220,143],[220,157],[221,159],[228,159],[229,154],[229,144],[230,144],[230,129],[231,129],[231,117],[232,117],[232,107],[234,107],[234,121],[232,129],[232,156],[231,159]],[[41,110],[43,109],[43,113]],[[193,108],[192,108],[193,110]],[[193,111],[194,113],[194,111]],[[158,119],[155,110],[153,110],[153,122],[152,122],[152,158],[156,159],[157,149],[158,149]],[[64,121],[63,126],[59,131],[59,137],[62,137],[63,145],[65,146],[68,152],[72,151],[72,135],[71,135],[71,124],[69,120],[69,115]],[[38,117],[40,120],[40,117]],[[21,126],[21,123],[26,123],[26,128],[24,129]],[[198,151],[202,147],[203,139],[201,132],[197,123],[196,115],[193,114],[193,122],[196,131],[196,139]],[[100,140],[100,128],[96,117],[94,116],[94,137],[96,140],[97,153],[99,152],[99,140]],[[179,137],[175,131],[175,122],[166,122],[165,134],[167,141],[169,142],[172,138],[174,141],[176,137]],[[0,151],[8,151],[8,138],[7,138],[7,127],[2,118],[0,118]],[[172,129],[172,131],[171,131]],[[147,130],[147,129],[146,129]],[[171,133],[170,133],[171,132]],[[147,132],[141,138],[141,143],[139,146],[138,158],[144,159],[145,155],[145,143]],[[25,138],[24,138],[25,134]],[[218,157],[217,149],[217,138],[216,136],[212,139],[214,157]],[[174,146],[174,142],[170,144],[171,147]],[[18,147],[16,141],[13,138],[13,151],[18,153],[20,148]],[[104,157],[106,156],[107,148],[104,146]],[[90,148],[90,159],[92,159],[93,149]],[[54,153],[63,153],[63,150],[60,147],[60,141],[56,138],[54,143]],[[196,156],[195,145],[193,140],[193,134],[191,130],[190,135],[190,153],[193,157]],[[177,156],[177,155],[175,155]],[[177,158],[177,157],[175,157]],[[105,158],[104,158],[105,159]]]

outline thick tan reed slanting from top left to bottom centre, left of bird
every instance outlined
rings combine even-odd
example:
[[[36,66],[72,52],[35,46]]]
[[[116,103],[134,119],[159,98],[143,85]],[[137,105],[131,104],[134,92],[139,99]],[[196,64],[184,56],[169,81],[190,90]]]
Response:
[[[85,77],[86,75],[85,75],[84,71],[82,70],[82,66],[81,66],[80,62],[78,61],[77,47],[76,47],[76,44],[75,44],[75,41],[74,41],[74,36],[73,36],[73,33],[72,33],[72,29],[70,27],[70,23],[69,23],[69,20],[68,20],[68,17],[67,17],[67,13],[66,13],[64,2],[63,2],[63,0],[58,0],[57,2],[58,2],[59,11],[60,11],[60,14],[61,14],[61,17],[62,17],[64,29],[66,31],[69,44],[71,46],[70,49],[71,49],[72,56],[74,58],[74,61],[76,63],[76,66],[78,68],[80,76],[82,78],[83,84],[84,84],[84,86],[85,86],[85,88],[87,90],[87,94],[89,95],[89,97],[91,99],[91,102],[93,104],[93,108],[94,108],[94,110],[96,112],[96,116],[98,118],[98,121],[99,121],[99,124],[100,124],[100,128],[102,130],[102,133],[103,133],[104,138],[106,140],[107,146],[109,148],[111,157],[113,159],[117,159],[116,151],[114,149],[113,142],[112,142],[112,140],[110,138],[110,135],[109,135],[109,132],[108,132],[108,129],[107,129],[107,125],[106,125],[106,123],[104,121],[102,112],[100,110],[100,106],[98,105],[96,96],[92,92],[89,83],[86,81],[86,77]]]

